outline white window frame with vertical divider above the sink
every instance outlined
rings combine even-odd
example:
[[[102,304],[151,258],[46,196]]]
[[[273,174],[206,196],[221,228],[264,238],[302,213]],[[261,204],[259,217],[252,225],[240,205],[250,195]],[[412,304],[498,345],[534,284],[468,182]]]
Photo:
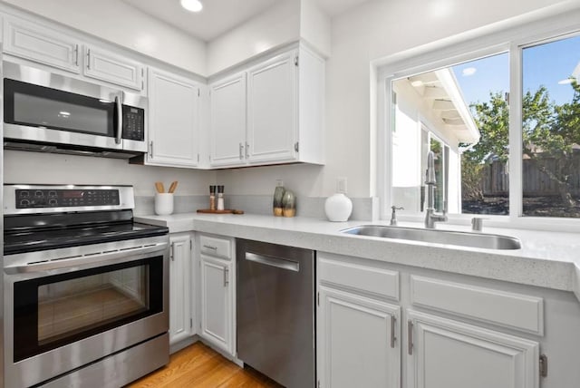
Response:
[[[532,228],[580,231],[580,218],[523,216],[522,182],[522,53],[527,47],[580,34],[580,9],[556,15],[536,13],[535,19],[521,16],[508,24],[479,28],[450,38],[397,53],[376,65],[377,79],[377,193],[381,219],[391,214],[392,107],[391,82],[413,74],[430,72],[478,58],[507,53],[509,61],[509,215],[452,214],[449,223],[468,225],[470,218],[488,218],[486,223],[500,228]],[[555,27],[557,26],[557,27]],[[401,211],[400,220],[421,221],[422,213]]]

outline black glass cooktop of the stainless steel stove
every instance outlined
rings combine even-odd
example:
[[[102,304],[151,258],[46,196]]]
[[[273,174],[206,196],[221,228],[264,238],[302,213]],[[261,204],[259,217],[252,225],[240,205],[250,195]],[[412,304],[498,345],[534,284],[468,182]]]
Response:
[[[122,213],[5,217],[4,254],[79,247],[169,233],[165,227],[133,223],[131,211],[129,214]]]

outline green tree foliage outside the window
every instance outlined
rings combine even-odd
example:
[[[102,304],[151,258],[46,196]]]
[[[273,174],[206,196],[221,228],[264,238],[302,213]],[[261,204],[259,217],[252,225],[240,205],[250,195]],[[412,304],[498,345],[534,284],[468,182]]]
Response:
[[[571,81],[575,91],[571,102],[556,105],[550,101],[544,86],[536,92],[526,92],[522,99],[525,158],[556,183],[568,207],[575,206],[569,180],[574,172],[574,148],[580,144],[580,85]],[[479,187],[482,165],[492,160],[507,162],[508,159],[509,114],[504,92],[490,92],[489,102],[473,103],[471,110],[481,137],[462,155],[463,192],[464,198],[482,199]]]

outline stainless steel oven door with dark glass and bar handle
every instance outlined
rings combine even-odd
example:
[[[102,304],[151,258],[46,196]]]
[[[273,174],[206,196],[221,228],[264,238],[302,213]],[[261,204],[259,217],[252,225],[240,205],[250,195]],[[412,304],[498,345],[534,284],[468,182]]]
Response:
[[[168,247],[165,236],[6,256],[7,385],[43,383],[167,333]]]

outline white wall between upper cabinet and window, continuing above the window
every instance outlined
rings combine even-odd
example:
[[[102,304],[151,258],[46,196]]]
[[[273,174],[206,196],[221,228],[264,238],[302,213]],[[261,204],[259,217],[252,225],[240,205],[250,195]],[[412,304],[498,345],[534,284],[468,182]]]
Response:
[[[375,147],[372,61],[557,3],[572,2],[374,0],[335,17],[326,66],[327,165],[320,177],[324,195],[333,192],[337,175],[349,179],[354,197],[376,194],[369,184],[375,163],[369,157]]]

